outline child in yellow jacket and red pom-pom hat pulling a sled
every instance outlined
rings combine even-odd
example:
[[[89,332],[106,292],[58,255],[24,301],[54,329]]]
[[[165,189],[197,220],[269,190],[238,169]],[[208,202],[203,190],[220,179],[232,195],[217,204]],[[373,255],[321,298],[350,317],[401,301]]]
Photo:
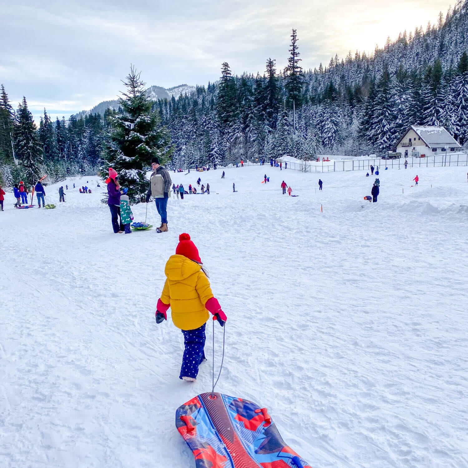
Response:
[[[166,283],[158,300],[156,323],[167,320],[172,309],[172,321],[182,330],[185,349],[179,379],[195,382],[198,366],[205,360],[205,326],[210,318],[221,327],[227,317],[211,291],[208,275],[203,269],[198,249],[189,234],[179,236],[176,255],[169,257],[164,273]]]

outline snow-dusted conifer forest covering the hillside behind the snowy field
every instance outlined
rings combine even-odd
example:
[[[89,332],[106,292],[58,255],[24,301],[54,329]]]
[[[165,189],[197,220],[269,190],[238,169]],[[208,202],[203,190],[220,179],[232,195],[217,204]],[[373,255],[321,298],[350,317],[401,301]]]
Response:
[[[263,74],[232,76],[225,62],[215,83],[152,102],[173,145],[166,163],[188,168],[285,154],[305,160],[317,153],[383,154],[411,124],[443,125],[466,146],[467,51],[468,0],[372,54],[350,51],[314,70],[305,69],[293,29],[284,70],[269,58]],[[116,112],[122,109],[54,121],[44,110],[36,128],[26,99],[14,110],[2,85],[0,183],[41,172],[52,180],[95,173]]]

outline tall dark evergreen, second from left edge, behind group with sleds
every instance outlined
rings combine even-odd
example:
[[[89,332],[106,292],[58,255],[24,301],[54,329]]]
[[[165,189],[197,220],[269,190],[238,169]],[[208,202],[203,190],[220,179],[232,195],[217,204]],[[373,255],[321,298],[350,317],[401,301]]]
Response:
[[[26,182],[32,185],[37,182],[40,174],[39,165],[43,162],[43,151],[37,138],[36,124],[24,96],[22,103],[18,106],[16,119],[16,153],[24,168]]]

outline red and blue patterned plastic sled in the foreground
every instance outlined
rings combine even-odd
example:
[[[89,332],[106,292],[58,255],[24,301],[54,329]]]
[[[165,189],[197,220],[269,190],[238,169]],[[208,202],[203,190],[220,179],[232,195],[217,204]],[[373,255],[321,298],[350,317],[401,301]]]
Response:
[[[176,411],[176,427],[196,468],[311,468],[287,446],[266,408],[202,393]]]

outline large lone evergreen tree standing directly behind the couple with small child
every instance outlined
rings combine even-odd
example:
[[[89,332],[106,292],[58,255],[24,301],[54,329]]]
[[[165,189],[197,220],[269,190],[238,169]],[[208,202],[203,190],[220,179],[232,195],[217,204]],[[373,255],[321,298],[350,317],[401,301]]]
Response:
[[[140,73],[131,66],[130,73],[123,81],[126,92],[119,103],[122,112],[111,119],[111,131],[105,142],[105,165],[102,173],[114,168],[121,186],[128,188],[132,202],[137,201],[148,189],[146,168],[153,157],[164,164],[174,149],[166,127],[161,127],[161,118],[152,111]]]

